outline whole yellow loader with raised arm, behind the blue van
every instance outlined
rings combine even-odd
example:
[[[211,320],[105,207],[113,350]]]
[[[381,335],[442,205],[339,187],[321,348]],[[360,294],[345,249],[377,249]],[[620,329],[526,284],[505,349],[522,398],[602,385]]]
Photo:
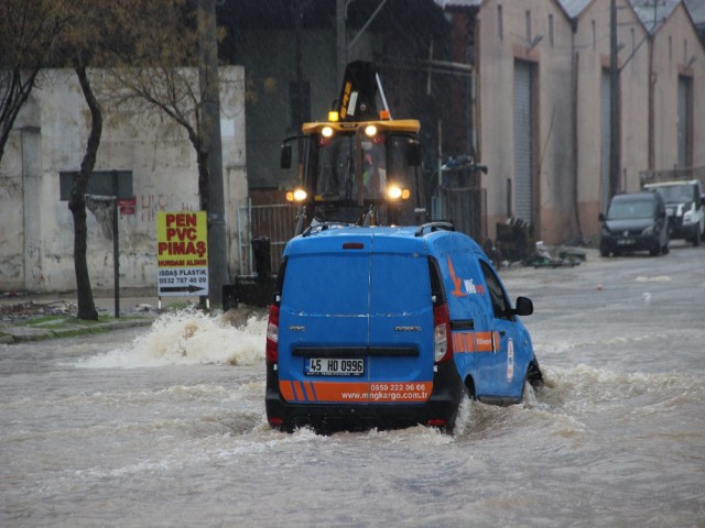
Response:
[[[380,94],[384,100],[376,66],[351,63],[327,121],[304,123],[301,135],[284,140],[281,166],[293,183],[286,199],[300,206],[296,234],[324,221],[416,223],[420,123],[377,111]]]

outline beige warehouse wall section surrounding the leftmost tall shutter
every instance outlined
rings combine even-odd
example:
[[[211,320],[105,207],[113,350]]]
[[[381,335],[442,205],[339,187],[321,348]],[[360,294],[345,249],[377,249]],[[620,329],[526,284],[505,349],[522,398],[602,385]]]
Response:
[[[527,12],[530,12],[531,35],[527,34]],[[535,72],[536,127],[533,145],[535,216],[525,220],[532,221],[536,237],[549,242],[565,240],[572,235],[575,186],[570,21],[553,1],[491,0],[482,3],[477,22],[479,157],[489,166],[489,175],[484,178],[488,234],[495,238],[496,223],[507,219],[507,180],[513,182],[514,173],[514,62],[527,61],[533,64]],[[539,35],[543,37],[530,50],[530,40]],[[516,198],[516,193],[512,196]]]

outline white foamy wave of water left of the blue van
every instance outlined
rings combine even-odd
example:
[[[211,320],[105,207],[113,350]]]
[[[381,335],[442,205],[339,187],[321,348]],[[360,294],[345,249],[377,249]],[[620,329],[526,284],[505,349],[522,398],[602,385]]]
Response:
[[[161,315],[127,346],[83,359],[83,369],[167,365],[256,365],[264,360],[267,315],[247,308],[225,315],[186,309]]]

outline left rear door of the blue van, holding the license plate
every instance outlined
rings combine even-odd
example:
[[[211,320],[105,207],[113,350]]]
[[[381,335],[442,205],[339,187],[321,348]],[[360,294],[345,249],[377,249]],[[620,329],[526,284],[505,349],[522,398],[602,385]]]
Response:
[[[285,400],[367,402],[370,245],[335,235],[291,246],[279,315]]]

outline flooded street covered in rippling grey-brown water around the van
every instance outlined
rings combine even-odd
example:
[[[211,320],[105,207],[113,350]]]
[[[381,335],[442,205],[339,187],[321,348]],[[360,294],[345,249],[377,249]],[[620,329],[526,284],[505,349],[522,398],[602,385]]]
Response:
[[[0,345],[0,526],[705,526],[705,248],[500,275],[546,386],[452,437],[271,430],[263,315]]]

